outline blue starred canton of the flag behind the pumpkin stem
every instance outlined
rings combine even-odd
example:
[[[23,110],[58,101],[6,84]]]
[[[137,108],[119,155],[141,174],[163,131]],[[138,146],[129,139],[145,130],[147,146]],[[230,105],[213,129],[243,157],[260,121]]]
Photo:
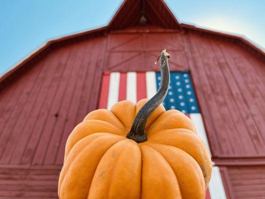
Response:
[[[156,73],[157,89],[160,87],[161,73]],[[196,97],[187,71],[172,72],[170,86],[163,105],[167,110],[177,109],[185,114],[199,113]]]

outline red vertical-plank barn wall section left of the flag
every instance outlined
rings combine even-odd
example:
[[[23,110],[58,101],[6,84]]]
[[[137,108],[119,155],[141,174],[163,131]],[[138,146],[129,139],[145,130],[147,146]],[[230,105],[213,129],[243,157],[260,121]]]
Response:
[[[69,132],[96,108],[102,52],[103,38],[56,49],[0,93],[0,164],[62,164]]]

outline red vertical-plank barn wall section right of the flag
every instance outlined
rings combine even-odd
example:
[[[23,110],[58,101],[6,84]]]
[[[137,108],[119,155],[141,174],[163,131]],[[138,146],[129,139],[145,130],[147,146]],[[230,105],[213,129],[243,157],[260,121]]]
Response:
[[[229,42],[186,35],[213,156],[265,156],[265,64]]]

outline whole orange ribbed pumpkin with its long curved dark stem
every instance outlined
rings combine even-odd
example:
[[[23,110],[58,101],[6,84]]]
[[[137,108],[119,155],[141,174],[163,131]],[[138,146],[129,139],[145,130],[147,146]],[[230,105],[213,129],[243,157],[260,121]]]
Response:
[[[70,134],[60,199],[205,199],[211,159],[192,121],[161,104],[170,82],[160,55],[161,86],[151,99],[90,112]]]

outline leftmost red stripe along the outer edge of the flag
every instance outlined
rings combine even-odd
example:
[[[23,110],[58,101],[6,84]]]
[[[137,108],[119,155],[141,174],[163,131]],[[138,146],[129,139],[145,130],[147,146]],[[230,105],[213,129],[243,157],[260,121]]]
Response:
[[[103,74],[98,108],[107,108],[109,78],[110,78],[110,73]]]

